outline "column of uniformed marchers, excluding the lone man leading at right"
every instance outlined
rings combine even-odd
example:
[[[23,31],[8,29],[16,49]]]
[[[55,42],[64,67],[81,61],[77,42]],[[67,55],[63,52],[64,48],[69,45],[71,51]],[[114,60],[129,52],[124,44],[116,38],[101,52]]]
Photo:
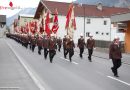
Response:
[[[69,55],[69,60],[72,62],[72,56],[74,55],[74,48],[75,43],[73,39],[69,35],[65,35],[63,40],[59,37],[57,38],[55,34],[51,34],[51,36],[48,36],[46,34],[44,35],[28,35],[28,34],[6,34],[8,38],[12,38],[18,43],[22,44],[22,46],[26,48],[30,48],[32,52],[34,52],[35,47],[38,47],[38,54],[41,55],[41,50],[44,50],[44,59],[47,59],[47,56],[49,54],[50,63],[53,62],[53,58],[56,55],[56,51],[61,51],[61,47],[63,45],[63,51],[64,51],[64,58],[66,59],[67,55]],[[80,49],[79,56],[83,57],[84,48],[87,47],[89,51],[88,59],[91,62],[91,56],[93,52],[93,48],[95,47],[95,41],[92,39],[92,36],[90,36],[90,39],[87,40],[87,43],[85,43],[85,40],[83,38],[83,35],[80,35],[80,38],[78,39],[77,47]]]

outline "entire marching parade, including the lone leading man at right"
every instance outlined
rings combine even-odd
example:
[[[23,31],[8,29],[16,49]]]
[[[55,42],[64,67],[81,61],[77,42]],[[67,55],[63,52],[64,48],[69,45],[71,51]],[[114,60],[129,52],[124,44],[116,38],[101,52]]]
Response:
[[[65,35],[63,40],[60,37],[57,38],[55,34],[51,34],[51,36],[48,36],[46,34],[28,35],[7,33],[6,36],[8,38],[14,39],[25,48],[30,48],[32,52],[34,52],[35,47],[37,46],[39,55],[41,55],[41,50],[43,49],[44,59],[46,60],[49,54],[50,63],[53,62],[56,51],[60,52],[61,47],[63,46],[64,58],[66,59],[67,54],[69,54],[69,60],[70,62],[72,62],[72,56],[74,55],[74,48],[76,45],[69,35]],[[79,56],[81,59],[83,58],[84,48],[86,47],[88,49],[88,60],[92,62],[93,49],[95,49],[95,40],[93,39],[93,36],[91,34],[89,35],[89,37],[90,38],[85,43],[83,35],[81,34],[80,38],[78,39],[77,47],[80,50]],[[113,67],[111,67],[111,70],[115,77],[119,77],[117,69],[121,66],[122,58],[119,38],[115,38],[113,40],[110,45],[109,51],[109,58],[112,59],[113,63]]]

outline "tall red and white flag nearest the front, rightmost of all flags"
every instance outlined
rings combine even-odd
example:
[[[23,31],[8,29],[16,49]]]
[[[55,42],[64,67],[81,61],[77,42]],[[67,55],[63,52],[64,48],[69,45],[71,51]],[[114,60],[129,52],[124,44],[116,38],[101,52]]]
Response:
[[[66,25],[65,29],[67,29],[67,35],[73,38],[74,30],[76,30],[76,21],[74,16],[74,5],[70,4],[69,10],[66,16]]]

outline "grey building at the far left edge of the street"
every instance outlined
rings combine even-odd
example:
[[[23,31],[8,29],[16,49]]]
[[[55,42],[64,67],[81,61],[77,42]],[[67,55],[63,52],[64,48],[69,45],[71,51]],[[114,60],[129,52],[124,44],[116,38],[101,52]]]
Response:
[[[0,15],[0,37],[3,37],[6,31],[6,15]]]

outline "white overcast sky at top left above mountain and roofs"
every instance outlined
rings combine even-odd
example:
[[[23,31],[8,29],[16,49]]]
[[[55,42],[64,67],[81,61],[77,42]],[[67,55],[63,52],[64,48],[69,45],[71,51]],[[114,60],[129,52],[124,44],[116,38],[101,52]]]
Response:
[[[9,2],[13,2],[13,7],[37,7],[40,0],[0,0],[0,6],[2,7],[9,7]],[[59,2],[72,2],[75,0],[50,0],[50,1],[59,1]],[[0,14],[7,15],[10,17],[20,11],[19,9],[10,10],[10,9],[0,9]]]

